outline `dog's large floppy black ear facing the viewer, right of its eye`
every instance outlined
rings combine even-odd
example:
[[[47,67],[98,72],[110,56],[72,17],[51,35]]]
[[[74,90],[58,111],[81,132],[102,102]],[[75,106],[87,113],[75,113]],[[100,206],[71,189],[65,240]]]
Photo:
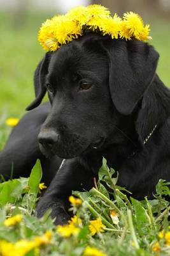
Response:
[[[110,61],[113,104],[123,115],[130,115],[152,83],[159,54],[152,46],[135,39],[112,40],[104,48]]]

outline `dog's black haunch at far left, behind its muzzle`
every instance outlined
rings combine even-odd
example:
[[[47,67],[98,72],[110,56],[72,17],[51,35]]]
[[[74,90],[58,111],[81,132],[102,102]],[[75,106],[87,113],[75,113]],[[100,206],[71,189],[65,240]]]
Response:
[[[0,174],[5,179],[28,176],[36,159],[41,158],[38,133],[46,119],[50,104],[27,113],[13,129],[4,150],[0,152]]]

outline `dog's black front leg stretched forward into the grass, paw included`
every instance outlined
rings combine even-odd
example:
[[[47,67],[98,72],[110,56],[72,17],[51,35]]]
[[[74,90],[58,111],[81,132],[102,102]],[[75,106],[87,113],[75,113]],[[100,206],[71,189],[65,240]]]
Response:
[[[72,190],[89,190],[94,186],[94,173],[89,165],[80,158],[67,159],[62,163],[37,206],[38,217],[43,216],[47,209],[52,209],[55,224],[67,223],[70,216],[67,213],[69,195]]]

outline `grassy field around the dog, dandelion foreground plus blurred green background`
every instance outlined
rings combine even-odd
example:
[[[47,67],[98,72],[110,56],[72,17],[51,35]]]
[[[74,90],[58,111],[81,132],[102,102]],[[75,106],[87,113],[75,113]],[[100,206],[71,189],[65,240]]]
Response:
[[[37,42],[37,33],[47,17],[49,15],[28,14],[25,24],[16,28],[10,13],[1,13],[0,150],[11,130],[5,124],[6,118],[20,118],[34,99],[33,72],[44,54]],[[153,38],[150,44],[160,53],[158,74],[170,87],[169,23],[152,20],[150,26]],[[74,201],[72,205],[79,221],[72,220],[65,229],[56,229],[49,212],[41,220],[35,217],[41,180],[38,163],[29,179],[1,183],[0,255],[170,255],[169,203],[164,200],[164,195],[170,195],[167,184],[160,180],[152,201],[145,198],[143,202],[133,199],[129,202],[124,190],[116,186],[117,180],[111,179],[111,172],[103,162],[96,188],[75,193],[81,199],[80,204]],[[112,189],[112,199],[101,180]],[[15,217],[6,221],[11,215]]]

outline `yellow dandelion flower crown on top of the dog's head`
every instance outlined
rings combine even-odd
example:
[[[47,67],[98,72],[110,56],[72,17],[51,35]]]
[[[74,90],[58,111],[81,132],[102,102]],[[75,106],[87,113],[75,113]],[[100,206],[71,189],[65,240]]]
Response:
[[[57,51],[63,44],[82,36],[85,31],[93,31],[111,38],[132,37],[139,41],[150,39],[150,26],[144,26],[141,17],[134,12],[124,13],[123,19],[117,13],[113,17],[110,11],[99,4],[72,8],[66,15],[56,15],[47,19],[39,29],[38,40],[46,51]]]

